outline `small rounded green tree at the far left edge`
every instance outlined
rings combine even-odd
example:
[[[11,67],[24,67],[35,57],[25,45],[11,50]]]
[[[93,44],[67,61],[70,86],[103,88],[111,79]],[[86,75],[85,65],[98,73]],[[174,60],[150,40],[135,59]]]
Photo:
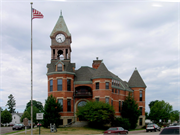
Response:
[[[1,113],[1,122],[2,123],[10,123],[12,121],[12,115],[11,113],[5,109],[2,113]]]

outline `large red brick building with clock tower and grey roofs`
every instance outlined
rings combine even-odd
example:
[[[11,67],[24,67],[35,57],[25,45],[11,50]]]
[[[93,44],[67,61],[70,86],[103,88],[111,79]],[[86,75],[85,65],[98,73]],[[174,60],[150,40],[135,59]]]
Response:
[[[121,116],[123,101],[133,93],[142,115],[138,125],[145,124],[146,85],[137,69],[129,81],[121,80],[110,72],[102,60],[93,60],[92,67],[75,69],[71,63],[71,34],[60,15],[51,35],[51,63],[47,64],[48,96],[51,94],[61,103],[61,124],[77,121],[76,110],[88,100],[97,100],[114,106],[115,115]]]

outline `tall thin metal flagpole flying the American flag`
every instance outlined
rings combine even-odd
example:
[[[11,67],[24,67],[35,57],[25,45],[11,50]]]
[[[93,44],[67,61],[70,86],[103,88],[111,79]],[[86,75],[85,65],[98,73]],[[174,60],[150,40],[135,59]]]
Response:
[[[33,135],[33,44],[32,44],[32,2],[31,2],[31,135]]]

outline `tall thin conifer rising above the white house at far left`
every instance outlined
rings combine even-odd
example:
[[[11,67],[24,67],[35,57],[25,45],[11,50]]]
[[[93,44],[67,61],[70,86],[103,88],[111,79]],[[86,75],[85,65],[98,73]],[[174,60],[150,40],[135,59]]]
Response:
[[[16,106],[16,101],[14,99],[14,96],[10,94],[8,96],[9,100],[7,101],[6,106],[8,106],[9,112],[10,113],[15,113],[15,106]]]

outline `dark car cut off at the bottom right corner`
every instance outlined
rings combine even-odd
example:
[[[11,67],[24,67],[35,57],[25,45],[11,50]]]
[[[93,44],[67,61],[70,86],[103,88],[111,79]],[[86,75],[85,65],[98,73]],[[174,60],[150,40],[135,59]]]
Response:
[[[180,126],[172,126],[172,127],[167,127],[167,128],[164,128],[161,132],[160,132],[160,134],[159,135],[171,135],[171,134],[173,134],[173,135],[179,135],[179,128],[180,128]]]

